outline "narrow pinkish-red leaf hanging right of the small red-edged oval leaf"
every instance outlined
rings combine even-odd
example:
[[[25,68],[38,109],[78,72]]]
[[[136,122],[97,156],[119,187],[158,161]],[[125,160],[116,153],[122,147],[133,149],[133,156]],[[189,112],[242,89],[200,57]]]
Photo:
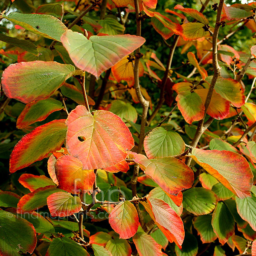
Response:
[[[172,239],[181,248],[185,236],[181,218],[163,200],[148,198],[147,201],[154,213],[155,221],[172,233]]]

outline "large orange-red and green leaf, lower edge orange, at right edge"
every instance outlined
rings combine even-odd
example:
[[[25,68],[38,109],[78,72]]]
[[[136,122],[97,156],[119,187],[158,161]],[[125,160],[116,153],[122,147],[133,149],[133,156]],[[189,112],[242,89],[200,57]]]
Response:
[[[253,174],[249,163],[240,154],[194,148],[191,157],[239,198],[250,196]]]

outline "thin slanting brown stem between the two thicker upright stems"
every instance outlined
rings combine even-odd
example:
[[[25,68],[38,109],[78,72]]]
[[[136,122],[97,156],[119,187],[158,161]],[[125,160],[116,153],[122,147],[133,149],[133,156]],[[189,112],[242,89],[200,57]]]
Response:
[[[163,105],[166,82],[167,82],[167,79],[168,79],[168,76],[169,76],[169,71],[171,69],[172,59],[173,59],[173,55],[174,55],[175,48],[177,46],[178,40],[179,40],[179,36],[175,35],[174,41],[173,41],[172,46],[170,48],[170,52],[169,52],[169,56],[168,56],[168,60],[167,60],[167,64],[166,64],[166,71],[164,73],[163,80],[162,80],[162,83],[161,83],[159,102],[158,102],[156,108],[154,109],[153,113],[151,114],[151,116],[148,118],[147,125],[149,125],[152,122],[152,120],[154,119],[154,117],[156,116],[156,114],[158,113],[158,111],[160,110],[160,108]]]

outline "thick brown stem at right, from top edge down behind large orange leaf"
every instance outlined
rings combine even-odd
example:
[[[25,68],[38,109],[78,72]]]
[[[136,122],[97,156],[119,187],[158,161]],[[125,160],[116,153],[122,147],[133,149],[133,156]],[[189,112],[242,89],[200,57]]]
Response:
[[[215,86],[216,81],[218,79],[218,76],[221,72],[221,68],[219,67],[219,64],[218,64],[218,49],[217,49],[217,46],[218,46],[218,32],[219,32],[219,29],[220,29],[219,23],[220,23],[220,20],[221,20],[221,12],[222,12],[222,8],[223,8],[223,4],[224,4],[224,0],[220,0],[219,5],[218,5],[218,12],[217,12],[217,17],[216,17],[216,22],[215,22],[215,28],[214,28],[214,32],[213,32],[213,35],[212,35],[212,65],[213,65],[214,74],[213,74],[212,81],[211,81],[211,84],[210,84],[210,87],[209,87],[209,90],[208,90],[208,93],[207,93],[207,97],[206,97],[206,100],[205,100],[205,103],[204,103],[204,107],[205,107],[204,117],[203,117],[203,119],[201,119],[198,122],[198,128],[196,130],[195,137],[192,140],[192,143],[190,144],[192,146],[192,148],[195,148],[198,145],[198,142],[199,142],[202,134],[204,133],[204,131],[209,127],[209,125],[213,121],[213,118],[210,117],[207,120],[207,122],[204,124],[204,119],[206,117],[206,112],[207,112],[207,109],[208,109],[209,104],[211,102],[213,89],[214,89],[214,86]],[[185,163],[186,163],[187,166],[189,166],[190,163],[191,163],[191,157],[187,157]]]

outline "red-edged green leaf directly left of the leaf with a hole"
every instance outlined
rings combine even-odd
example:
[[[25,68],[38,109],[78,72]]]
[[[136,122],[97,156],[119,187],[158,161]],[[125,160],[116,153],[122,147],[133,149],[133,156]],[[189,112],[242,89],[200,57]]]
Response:
[[[50,152],[61,149],[67,132],[64,121],[65,119],[53,120],[26,134],[12,151],[10,172],[14,173],[35,161],[44,159]]]

